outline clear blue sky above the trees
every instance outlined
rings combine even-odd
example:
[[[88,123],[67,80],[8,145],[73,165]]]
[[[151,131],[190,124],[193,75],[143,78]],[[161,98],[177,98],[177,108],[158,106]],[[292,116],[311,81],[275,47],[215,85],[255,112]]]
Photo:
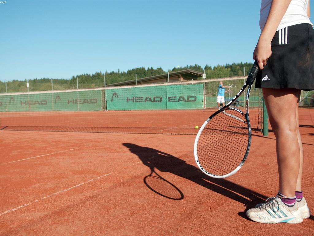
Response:
[[[1,81],[249,62],[260,33],[260,0],[2,1]]]

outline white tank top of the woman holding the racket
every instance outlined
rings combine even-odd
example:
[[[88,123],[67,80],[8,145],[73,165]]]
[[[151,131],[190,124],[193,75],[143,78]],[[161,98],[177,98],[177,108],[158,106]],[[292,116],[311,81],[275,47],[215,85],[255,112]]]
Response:
[[[259,27],[261,28],[261,31],[265,26],[272,1],[273,0],[262,0],[259,18]],[[308,23],[313,25],[306,14],[308,3],[309,0],[292,0],[286,13],[284,14],[284,17],[278,25],[277,31],[290,25],[302,23]]]

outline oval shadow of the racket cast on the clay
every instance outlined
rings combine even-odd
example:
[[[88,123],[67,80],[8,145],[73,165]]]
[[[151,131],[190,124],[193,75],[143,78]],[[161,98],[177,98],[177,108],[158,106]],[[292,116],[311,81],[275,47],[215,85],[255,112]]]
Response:
[[[150,168],[150,174],[145,176],[143,181],[150,190],[162,197],[172,200],[181,200],[184,197],[181,190],[157,174],[154,167]]]

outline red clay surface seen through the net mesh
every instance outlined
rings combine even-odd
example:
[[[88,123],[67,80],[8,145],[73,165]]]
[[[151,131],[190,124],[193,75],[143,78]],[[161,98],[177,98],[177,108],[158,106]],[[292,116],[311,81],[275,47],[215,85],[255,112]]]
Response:
[[[201,126],[216,110],[0,112],[0,129],[196,134],[194,127]],[[258,122],[258,117],[258,109],[250,109],[252,128],[261,127],[262,121],[260,118]]]

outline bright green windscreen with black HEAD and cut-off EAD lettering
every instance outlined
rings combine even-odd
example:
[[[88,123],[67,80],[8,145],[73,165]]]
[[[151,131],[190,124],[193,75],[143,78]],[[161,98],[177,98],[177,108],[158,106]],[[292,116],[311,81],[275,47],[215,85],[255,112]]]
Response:
[[[203,108],[203,83],[106,90],[107,110],[164,110]]]

